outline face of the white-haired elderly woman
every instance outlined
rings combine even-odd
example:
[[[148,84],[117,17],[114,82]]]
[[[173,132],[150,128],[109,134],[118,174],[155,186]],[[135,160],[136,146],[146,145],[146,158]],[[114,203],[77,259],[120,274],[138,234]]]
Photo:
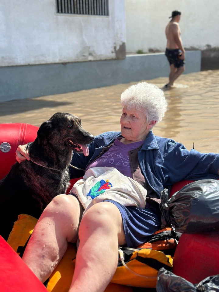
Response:
[[[146,116],[137,109],[128,110],[123,107],[123,113],[120,118],[121,134],[129,141],[144,140],[152,127],[153,123],[147,122]]]

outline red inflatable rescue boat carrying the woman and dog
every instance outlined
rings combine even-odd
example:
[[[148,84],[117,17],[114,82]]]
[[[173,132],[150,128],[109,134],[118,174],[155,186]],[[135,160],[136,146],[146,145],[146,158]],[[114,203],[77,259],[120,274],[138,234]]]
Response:
[[[15,151],[18,145],[34,141],[38,127],[25,123],[0,124],[0,179],[10,170],[16,162]],[[71,180],[72,188],[75,180]],[[171,195],[192,181],[178,182],[171,189]],[[205,248],[208,247],[208,252]],[[1,290],[5,292],[43,292],[48,291],[25,265],[19,255],[0,236]],[[207,276],[217,274],[219,271],[218,255],[219,239],[211,235],[181,235],[179,244],[173,258],[173,272],[182,276],[191,283],[198,283]],[[212,259],[214,258],[214,263]],[[207,267],[207,268],[206,268]],[[105,291],[133,291],[131,287],[110,283]],[[53,288],[49,291],[59,291]]]

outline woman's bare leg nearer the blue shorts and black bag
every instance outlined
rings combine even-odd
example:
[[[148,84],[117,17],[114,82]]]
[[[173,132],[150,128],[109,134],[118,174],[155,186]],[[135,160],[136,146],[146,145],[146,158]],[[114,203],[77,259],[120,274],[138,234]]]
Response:
[[[118,263],[118,245],[124,245],[122,217],[110,202],[93,205],[82,218],[80,244],[69,292],[103,292]]]

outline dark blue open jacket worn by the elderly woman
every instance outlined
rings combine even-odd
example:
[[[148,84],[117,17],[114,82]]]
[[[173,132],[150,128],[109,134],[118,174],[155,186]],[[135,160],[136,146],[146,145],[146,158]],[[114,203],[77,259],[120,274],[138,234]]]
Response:
[[[122,137],[120,132],[105,132],[96,136],[88,145],[89,156],[74,153],[71,164],[85,169],[104,151],[104,147],[112,144],[118,137]],[[204,154],[195,149],[188,151],[183,144],[155,136],[152,131],[138,152],[138,160],[146,181],[158,196],[164,188],[184,179],[219,178],[219,154]],[[71,179],[83,175],[84,171],[70,167]]]

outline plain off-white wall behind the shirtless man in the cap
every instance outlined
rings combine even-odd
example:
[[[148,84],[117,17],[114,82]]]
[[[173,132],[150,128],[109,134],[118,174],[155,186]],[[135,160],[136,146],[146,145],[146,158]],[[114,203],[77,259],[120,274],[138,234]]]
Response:
[[[219,47],[218,0],[125,0],[127,53],[165,51],[165,26],[173,10],[182,12],[179,23],[185,48]],[[210,46],[210,47],[209,47]]]

